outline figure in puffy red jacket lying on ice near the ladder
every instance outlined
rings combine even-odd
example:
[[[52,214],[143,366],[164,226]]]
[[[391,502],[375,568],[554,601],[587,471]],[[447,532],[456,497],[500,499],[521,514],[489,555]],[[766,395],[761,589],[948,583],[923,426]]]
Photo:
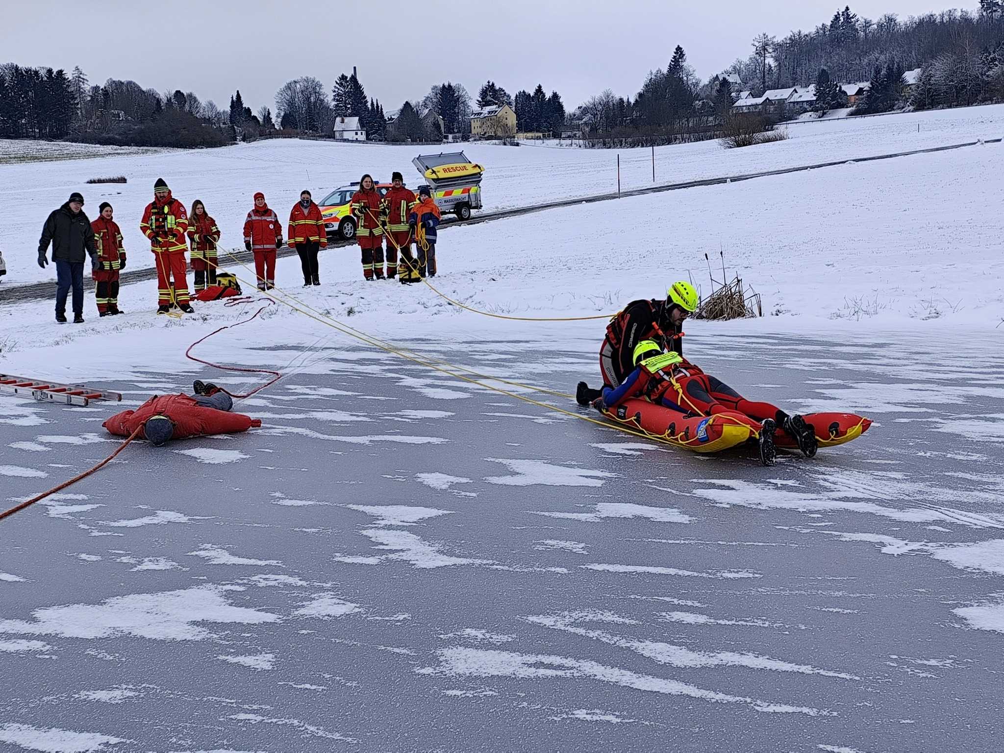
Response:
[[[193,390],[193,397],[155,395],[136,411],[115,414],[101,426],[119,437],[131,437],[143,427],[142,436],[155,447],[172,439],[235,434],[261,426],[259,419],[231,413],[233,399],[215,385],[196,382]]]

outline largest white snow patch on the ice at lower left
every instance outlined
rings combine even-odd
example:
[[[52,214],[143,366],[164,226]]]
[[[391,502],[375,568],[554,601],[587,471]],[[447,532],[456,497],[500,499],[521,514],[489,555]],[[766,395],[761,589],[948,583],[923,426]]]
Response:
[[[158,593],[130,593],[98,604],[35,609],[33,621],[0,619],[0,634],[103,639],[133,636],[155,641],[201,641],[210,636],[198,622],[277,622],[267,611],[234,606],[227,591],[239,586],[198,585]]]

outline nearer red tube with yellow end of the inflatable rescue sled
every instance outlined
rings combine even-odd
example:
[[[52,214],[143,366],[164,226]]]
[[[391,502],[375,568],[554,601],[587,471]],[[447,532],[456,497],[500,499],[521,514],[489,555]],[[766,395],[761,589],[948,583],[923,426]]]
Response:
[[[740,414],[688,418],[645,400],[626,400],[603,414],[618,424],[697,453],[715,453],[759,437],[759,424]]]

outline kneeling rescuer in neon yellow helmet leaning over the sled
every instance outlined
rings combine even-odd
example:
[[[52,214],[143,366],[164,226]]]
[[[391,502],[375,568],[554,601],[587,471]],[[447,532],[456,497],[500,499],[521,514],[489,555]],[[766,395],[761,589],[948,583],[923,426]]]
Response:
[[[619,386],[635,368],[633,353],[642,340],[655,340],[664,350],[684,354],[683,325],[697,311],[698,294],[684,280],[674,282],[666,300],[636,300],[624,306],[606,327],[606,336],[599,348],[599,370],[605,387]],[[596,400],[601,390],[592,390],[578,383],[575,400],[587,406]]]

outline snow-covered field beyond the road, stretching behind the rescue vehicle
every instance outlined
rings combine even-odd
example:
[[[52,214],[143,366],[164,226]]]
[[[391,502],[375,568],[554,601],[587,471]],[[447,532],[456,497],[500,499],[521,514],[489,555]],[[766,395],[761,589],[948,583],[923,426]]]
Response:
[[[788,127],[788,141],[741,150],[724,150],[714,141],[657,149],[656,182],[678,183],[1000,138],[1004,136],[1004,105],[795,123]],[[486,211],[616,190],[613,151],[477,144],[461,148],[486,168]],[[83,193],[84,210],[90,215],[96,214],[101,201],[115,207],[115,219],[131,253],[130,266],[137,268],[153,264],[139,223],[159,177],[168,181],[187,207],[202,199],[220,224],[222,244],[235,248],[242,245],[244,217],[256,191],[263,191],[270,206],[285,219],[302,189],[310,189],[314,199],[320,200],[327,191],[357,181],[365,172],[388,180],[392,171],[399,170],[407,182],[416,185],[419,175],[411,161],[420,149],[274,140],[153,155],[120,155],[110,150],[108,156],[95,159],[0,165],[0,250],[8,268],[3,284],[54,276],[51,268],[43,271],[35,264],[35,249],[45,217],[72,191]],[[621,188],[653,185],[650,150],[625,150],[619,155]],[[129,183],[84,183],[108,175],[123,175]],[[594,209],[597,215],[605,211]],[[728,217],[733,208],[723,206],[719,211]],[[753,234],[758,228],[748,231]]]

